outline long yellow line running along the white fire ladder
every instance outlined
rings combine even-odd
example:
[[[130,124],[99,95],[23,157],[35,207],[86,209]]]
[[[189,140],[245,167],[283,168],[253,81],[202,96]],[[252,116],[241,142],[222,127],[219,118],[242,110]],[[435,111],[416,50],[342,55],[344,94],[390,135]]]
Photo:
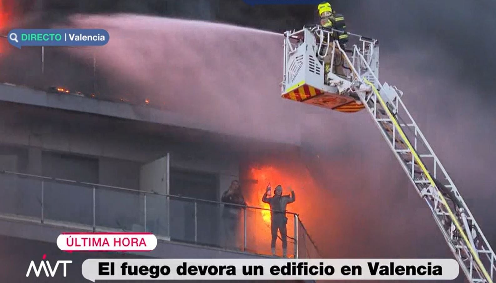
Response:
[[[420,158],[419,158],[417,152],[415,151],[415,149],[413,148],[412,144],[410,143],[410,141],[408,141],[405,133],[403,132],[403,129],[401,129],[400,125],[398,124],[398,122],[396,121],[396,119],[394,118],[394,116],[389,111],[389,108],[384,103],[384,100],[382,100],[382,97],[380,96],[379,91],[377,90],[377,88],[375,88],[375,86],[373,85],[373,83],[370,82],[365,77],[364,77],[364,81],[365,81],[365,83],[369,84],[372,87],[373,92],[375,93],[375,95],[377,96],[377,98],[379,98],[379,101],[380,101],[380,104],[382,105],[382,108],[384,108],[384,110],[387,112],[387,116],[389,116],[389,119],[391,119],[391,121],[393,122],[393,124],[396,127],[396,129],[398,130],[398,133],[400,134],[401,138],[403,139],[403,141],[405,141],[406,145],[408,146],[408,148],[410,149],[410,151],[414,155],[415,159],[417,160],[417,163],[422,168],[422,171],[424,171],[424,174],[426,174],[426,177],[431,182],[431,185],[433,187],[436,187],[436,185],[434,183],[434,180],[431,177],[431,174],[429,174],[429,171],[427,171],[427,168],[424,166],[424,163],[422,163],[422,160],[420,160]],[[451,217],[451,220],[453,221],[453,223],[455,223],[456,228],[461,233],[461,235],[463,237],[463,240],[465,240],[465,243],[467,244],[467,247],[470,249],[470,252],[472,253],[472,256],[474,257],[477,265],[479,266],[479,268],[481,269],[482,273],[484,274],[484,276],[488,280],[488,283],[493,283],[493,281],[491,280],[491,276],[486,271],[486,268],[484,267],[484,265],[482,264],[481,260],[479,259],[479,256],[477,255],[477,253],[475,252],[474,248],[472,247],[472,245],[471,245],[471,243],[470,243],[467,235],[465,235],[465,232],[463,231],[460,223],[458,223],[458,220],[456,219],[456,216],[453,214],[453,212],[451,212],[451,209],[449,208],[448,203],[446,202],[446,199],[441,194],[441,192],[439,191],[439,189],[437,190],[437,194],[439,195],[439,198],[441,199],[442,204],[444,205],[444,207],[448,211],[449,216]]]

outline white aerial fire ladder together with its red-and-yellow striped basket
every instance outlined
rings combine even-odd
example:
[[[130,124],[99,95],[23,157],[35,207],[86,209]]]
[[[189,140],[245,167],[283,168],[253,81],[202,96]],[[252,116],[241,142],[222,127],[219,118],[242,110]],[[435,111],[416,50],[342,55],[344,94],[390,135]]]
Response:
[[[378,79],[377,40],[319,25],[284,33],[282,97],[339,112],[366,110],[389,144],[471,283],[493,283],[496,255],[410,115],[403,92]],[[350,47],[350,48],[348,48]]]

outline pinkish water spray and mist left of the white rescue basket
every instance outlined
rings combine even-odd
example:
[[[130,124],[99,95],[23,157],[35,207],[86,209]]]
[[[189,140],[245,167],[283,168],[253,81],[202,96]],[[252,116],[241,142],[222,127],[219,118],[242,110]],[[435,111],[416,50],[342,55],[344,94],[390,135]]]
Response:
[[[262,140],[278,135],[289,143],[299,138],[292,121],[302,110],[280,99],[282,36],[137,15],[79,16],[72,25],[98,26],[111,34],[96,56],[99,73],[116,78],[114,93],[123,92],[124,84],[133,97],[228,134]],[[71,56],[91,55],[71,49]]]

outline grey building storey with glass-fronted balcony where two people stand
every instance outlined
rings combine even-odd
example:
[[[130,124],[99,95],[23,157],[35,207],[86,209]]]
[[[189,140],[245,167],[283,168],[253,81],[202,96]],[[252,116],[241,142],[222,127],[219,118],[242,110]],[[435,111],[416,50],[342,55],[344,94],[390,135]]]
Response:
[[[0,85],[0,109],[3,236],[55,245],[63,231],[147,231],[159,245],[146,256],[269,254],[268,243],[256,240],[257,208],[242,212],[236,243],[226,246],[220,197],[233,180],[256,182],[243,179],[250,162],[298,152],[297,144],[195,129],[148,106],[10,84]],[[288,222],[291,237],[305,235],[298,219]],[[291,257],[308,251],[310,242],[300,243],[290,244]]]

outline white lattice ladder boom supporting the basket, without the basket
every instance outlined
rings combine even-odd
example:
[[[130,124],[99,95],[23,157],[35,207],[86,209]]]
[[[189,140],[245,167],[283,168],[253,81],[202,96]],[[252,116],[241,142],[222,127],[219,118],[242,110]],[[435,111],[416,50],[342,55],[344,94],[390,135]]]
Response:
[[[471,283],[493,283],[495,253],[401,100],[402,92],[387,83],[380,84],[356,45],[353,46],[353,60],[350,61],[344,50],[336,44],[351,67],[355,81],[370,86],[370,90],[359,93],[360,99],[418,194],[431,209],[437,226],[465,276]],[[373,82],[357,71],[364,67]]]

